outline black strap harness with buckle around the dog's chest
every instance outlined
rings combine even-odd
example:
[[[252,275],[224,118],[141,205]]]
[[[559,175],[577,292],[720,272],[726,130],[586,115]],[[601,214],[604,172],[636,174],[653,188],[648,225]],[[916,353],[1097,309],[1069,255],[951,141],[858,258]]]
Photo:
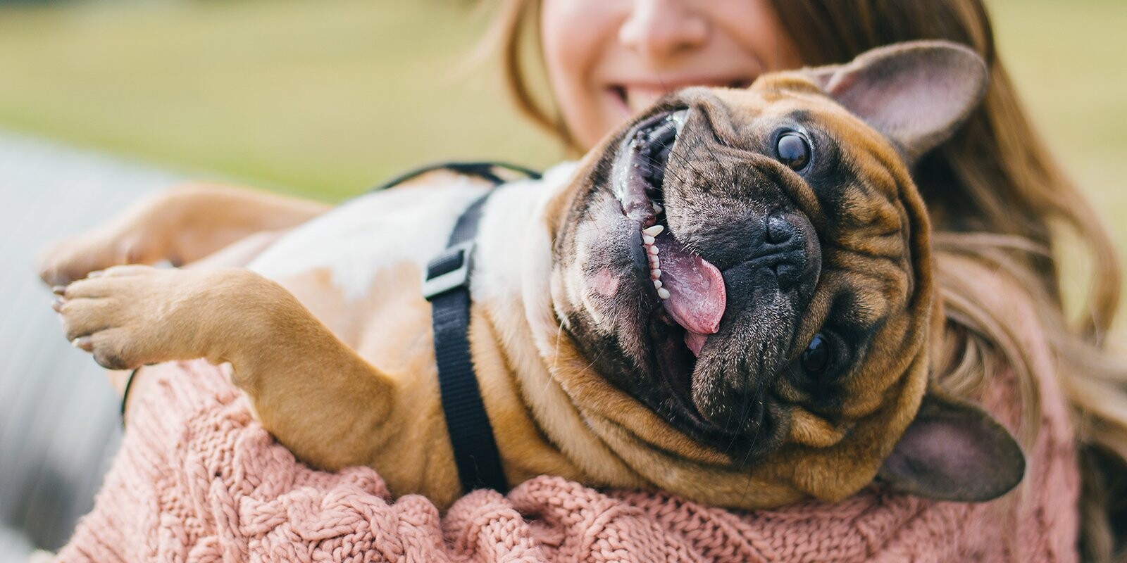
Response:
[[[412,170],[375,188],[387,189],[425,172],[450,170],[465,176],[483,178],[494,187],[506,180],[497,172],[509,170],[520,176],[539,179],[532,170],[497,162],[442,163]],[[500,465],[497,440],[481,401],[481,388],[473,373],[470,351],[470,276],[473,272],[473,251],[478,222],[490,189],[458,217],[450,234],[446,250],[427,263],[423,295],[431,302],[434,328],[434,355],[438,365],[438,388],[442,410],[446,415],[446,430],[454,448],[454,463],[462,491],[494,489],[505,492],[508,484]]]

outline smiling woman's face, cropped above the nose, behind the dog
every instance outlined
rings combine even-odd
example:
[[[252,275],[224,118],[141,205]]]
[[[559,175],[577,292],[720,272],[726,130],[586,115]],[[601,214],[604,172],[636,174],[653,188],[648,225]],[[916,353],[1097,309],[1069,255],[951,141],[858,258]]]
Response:
[[[662,95],[800,64],[766,0],[542,0],[544,62],[583,148]]]

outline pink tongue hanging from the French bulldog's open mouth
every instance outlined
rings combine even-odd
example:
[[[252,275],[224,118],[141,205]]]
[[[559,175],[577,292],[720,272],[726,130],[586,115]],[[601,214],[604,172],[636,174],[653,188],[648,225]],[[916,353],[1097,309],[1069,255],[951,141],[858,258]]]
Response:
[[[720,270],[690,252],[668,234],[654,241],[662,268],[662,286],[669,291],[665,310],[685,328],[685,345],[700,356],[709,334],[720,330],[720,318],[728,296]]]

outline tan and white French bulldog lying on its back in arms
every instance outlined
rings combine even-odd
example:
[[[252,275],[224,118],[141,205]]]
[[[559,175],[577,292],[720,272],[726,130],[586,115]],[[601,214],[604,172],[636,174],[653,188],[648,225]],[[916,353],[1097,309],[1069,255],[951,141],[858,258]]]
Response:
[[[689,88],[577,163],[496,188],[469,339],[508,483],[553,474],[738,509],[873,482],[957,501],[1014,488],[1013,437],[929,378],[941,315],[909,177],[986,80],[970,50],[917,42]],[[285,222],[270,196],[204,190],[56,247],[42,275],[71,282],[55,309],[104,367],[229,366],[298,458],[369,465],[393,494],[449,506],[462,491],[420,279],[487,189],[425,175],[236,244],[247,268],[108,267]],[[185,208],[202,209],[195,230],[161,226]]]

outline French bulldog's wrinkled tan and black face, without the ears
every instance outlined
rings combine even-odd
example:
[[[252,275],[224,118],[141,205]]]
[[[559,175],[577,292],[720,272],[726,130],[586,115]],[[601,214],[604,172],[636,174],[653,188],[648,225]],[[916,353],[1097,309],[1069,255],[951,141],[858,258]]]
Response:
[[[683,90],[583,181],[560,313],[677,428],[754,462],[797,411],[836,441],[891,386],[923,388],[926,218],[895,149],[813,84]]]

